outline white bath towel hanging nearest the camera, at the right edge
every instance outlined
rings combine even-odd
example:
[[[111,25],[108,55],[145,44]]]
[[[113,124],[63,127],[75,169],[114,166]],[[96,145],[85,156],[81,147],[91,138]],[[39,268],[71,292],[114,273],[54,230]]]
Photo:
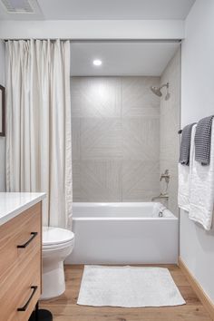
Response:
[[[195,153],[194,153],[195,154]],[[211,148],[209,165],[204,166],[193,156],[190,177],[189,218],[211,229],[214,204],[214,121],[211,130]]]

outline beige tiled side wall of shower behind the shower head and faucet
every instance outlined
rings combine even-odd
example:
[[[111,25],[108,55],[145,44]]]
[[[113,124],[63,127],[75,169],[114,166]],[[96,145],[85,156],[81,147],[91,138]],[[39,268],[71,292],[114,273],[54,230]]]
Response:
[[[160,99],[160,173],[170,170],[168,207],[178,209],[178,160],[180,151],[180,50],[161,75],[161,83],[170,83],[170,100]]]

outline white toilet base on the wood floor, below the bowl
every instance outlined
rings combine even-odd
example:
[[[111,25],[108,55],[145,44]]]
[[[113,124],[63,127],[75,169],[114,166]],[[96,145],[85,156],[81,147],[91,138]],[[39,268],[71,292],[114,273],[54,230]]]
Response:
[[[40,300],[59,297],[65,291],[63,261],[43,264],[43,292]]]

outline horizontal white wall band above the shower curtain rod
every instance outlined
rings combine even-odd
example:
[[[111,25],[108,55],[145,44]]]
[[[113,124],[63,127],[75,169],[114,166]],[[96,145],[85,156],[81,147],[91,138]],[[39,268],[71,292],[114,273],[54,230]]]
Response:
[[[0,21],[0,39],[183,39],[182,20]]]

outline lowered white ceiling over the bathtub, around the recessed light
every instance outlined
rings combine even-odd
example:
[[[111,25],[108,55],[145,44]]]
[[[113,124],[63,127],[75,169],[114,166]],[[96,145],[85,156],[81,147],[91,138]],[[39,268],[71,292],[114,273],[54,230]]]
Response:
[[[160,76],[178,50],[179,43],[73,42],[72,76]],[[92,64],[102,60],[102,66]]]

